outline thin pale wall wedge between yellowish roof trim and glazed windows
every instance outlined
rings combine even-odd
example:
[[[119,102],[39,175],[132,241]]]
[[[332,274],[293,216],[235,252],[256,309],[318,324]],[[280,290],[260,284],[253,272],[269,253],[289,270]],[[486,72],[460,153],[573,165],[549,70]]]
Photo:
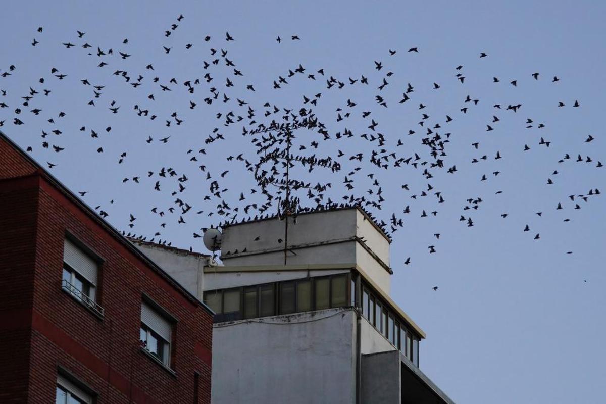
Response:
[[[220,267],[219,267],[220,268]],[[309,271],[309,276],[325,276],[349,273],[350,270]],[[261,285],[261,283],[281,282],[282,280],[301,279],[308,271],[275,271],[275,272],[228,272],[213,273],[213,268],[206,268],[204,273],[204,290],[237,288],[238,286]]]

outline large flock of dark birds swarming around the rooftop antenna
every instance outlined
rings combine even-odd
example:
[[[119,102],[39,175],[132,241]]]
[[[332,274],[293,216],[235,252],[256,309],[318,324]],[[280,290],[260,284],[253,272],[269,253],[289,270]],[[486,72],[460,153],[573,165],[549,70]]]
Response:
[[[162,36],[168,40],[171,36],[177,36],[179,25],[184,24],[184,16],[180,15],[163,30]],[[31,46],[36,48],[44,42],[44,29],[38,28]],[[172,39],[172,38],[171,38]],[[90,136],[91,148],[96,153],[104,153],[104,142],[112,142],[109,134],[112,132],[112,116],[124,116],[132,114],[137,119],[147,119],[157,125],[158,131],[163,131],[160,136],[150,134],[133,134],[141,137],[141,144],[163,145],[175,141],[177,131],[187,132],[193,128],[187,127],[188,113],[198,113],[200,108],[213,108],[213,116],[216,123],[208,128],[208,134],[199,142],[195,149],[183,150],[184,159],[190,164],[189,170],[176,170],[173,167],[155,167],[141,170],[136,175],[128,174],[122,177],[123,184],[146,184],[150,190],[156,193],[170,194],[174,199],[172,205],[165,207],[151,204],[150,213],[157,217],[158,228],[153,233],[137,235],[135,227],[138,217],[145,214],[141,211],[133,211],[122,222],[125,229],[124,234],[133,239],[147,242],[171,245],[164,236],[164,230],[169,220],[178,225],[186,224],[188,221],[201,222],[196,214],[205,213],[207,221],[215,220],[216,226],[227,226],[241,220],[264,219],[273,216],[283,216],[285,213],[295,216],[297,213],[313,210],[325,210],[339,207],[359,206],[373,217],[384,233],[391,237],[396,231],[405,226],[405,218],[409,214],[418,214],[420,217],[435,217],[438,215],[438,207],[450,202],[444,191],[436,184],[436,176],[456,177],[462,164],[481,165],[482,162],[494,160],[499,162],[504,158],[500,150],[487,152],[481,147],[481,142],[471,142],[469,147],[479,154],[470,162],[463,162],[456,155],[449,154],[448,146],[455,139],[456,134],[449,130],[449,125],[459,116],[465,116],[474,110],[481,100],[470,95],[461,100],[461,105],[454,112],[444,113],[441,116],[426,112],[428,102],[417,99],[415,90],[417,86],[424,84],[405,85],[402,95],[393,99],[386,95],[384,90],[388,86],[394,86],[397,74],[390,71],[390,62],[384,60],[369,61],[370,73],[359,73],[356,76],[340,77],[325,68],[309,68],[302,62],[293,65],[287,71],[276,75],[275,79],[266,83],[252,83],[247,81],[246,72],[239,67],[238,61],[230,53],[230,44],[239,41],[230,33],[226,32],[220,38],[204,36],[202,44],[189,42],[171,42],[172,46],[165,44],[158,46],[158,51],[167,57],[175,55],[175,48],[190,51],[204,45],[205,59],[202,61],[199,76],[175,78],[156,73],[155,63],[139,66],[136,70],[124,67],[128,58],[136,53],[136,49],[130,49],[128,39],[112,47],[101,44],[89,44],[87,35],[82,31],[75,31],[73,38],[61,42],[62,47],[70,52],[80,52],[82,56],[96,59],[96,66],[108,79],[112,76],[119,85],[132,89],[134,105],[127,106],[130,100],[116,101],[106,94],[107,84],[92,82],[91,80],[73,71],[73,68],[50,67],[44,77],[38,82],[27,84],[21,94],[9,94],[2,89],[2,80],[10,80],[18,76],[19,69],[15,65],[0,66],[0,130],[5,129],[11,136],[11,125],[19,127],[28,125],[30,130],[40,130],[41,138],[39,144],[28,145],[27,151],[36,157],[45,159],[47,167],[56,167],[55,153],[69,153],[69,145],[63,141],[66,133],[81,131]],[[278,44],[288,41],[280,36],[276,38]],[[298,35],[290,35],[290,41],[301,41]],[[116,50],[114,50],[116,48]],[[171,53],[172,52],[172,53]],[[385,58],[393,58],[397,50],[385,52]],[[408,48],[407,53],[416,55],[418,47]],[[139,58],[147,58],[138,55]],[[179,57],[179,56],[176,56]],[[488,54],[481,52],[478,58],[488,58]],[[462,65],[454,68],[454,78],[461,85],[465,85],[465,70]],[[544,80],[538,73],[529,73],[527,80]],[[557,76],[547,78],[553,85],[557,85],[560,79]],[[110,113],[107,125],[102,128],[91,127],[87,123],[87,117],[82,117],[81,124],[76,128],[65,128],[62,119],[67,116],[65,111],[48,111],[39,107],[39,101],[43,98],[61,97],[62,83],[76,81],[81,85],[84,94],[87,94],[87,107],[91,113]],[[501,78],[493,77],[493,83],[501,82]],[[303,94],[301,100],[295,105],[275,105],[271,102],[261,102],[256,96],[260,87],[270,88],[268,91],[288,91],[293,83],[305,82],[308,94]],[[508,82],[512,87],[518,87],[524,81],[514,79]],[[368,88],[368,97],[364,100],[355,100],[344,97],[334,113],[322,109],[322,101],[327,97],[324,94],[339,98],[339,91],[347,87],[364,86]],[[442,85],[438,82],[430,84],[434,91],[441,91]],[[124,91],[124,90],[123,90]],[[185,111],[173,111],[164,113],[162,110],[170,108],[156,107],[162,103],[164,94],[180,94],[181,98],[187,100]],[[346,99],[345,99],[346,98]],[[158,103],[158,104],[156,104]],[[356,108],[357,107],[357,108]],[[579,108],[581,104],[576,99],[565,101],[554,101],[556,108]],[[400,108],[395,113],[401,113],[401,108],[407,108],[407,113],[415,118],[413,127],[405,131],[404,137],[381,133],[381,122],[376,118],[378,110],[391,110]],[[427,109],[426,109],[427,108]],[[513,119],[523,108],[522,102],[515,104],[494,104],[493,114],[488,122],[484,122],[482,131],[497,130],[501,121]],[[129,112],[130,110],[130,112]],[[44,117],[41,128],[35,117]],[[367,126],[356,129],[344,127],[348,120],[353,118],[362,119]],[[516,117],[517,118],[517,117]],[[41,118],[42,119],[42,118]],[[135,118],[133,118],[135,119]],[[32,128],[32,126],[35,126]],[[545,128],[542,122],[535,122],[527,118],[524,122],[525,128],[541,130]],[[236,140],[246,139],[250,146],[242,145]],[[143,137],[144,136],[144,137]],[[538,136],[536,142],[527,141],[520,145],[520,153],[532,153],[533,148],[548,149],[553,140],[545,134]],[[19,141],[19,139],[16,139]],[[588,135],[585,142],[593,142],[594,136]],[[348,149],[348,144],[362,142],[362,151],[347,153],[342,151]],[[22,143],[21,141],[19,143]],[[336,147],[333,147],[337,144]],[[343,144],[343,146],[341,146]],[[207,167],[205,159],[208,154],[228,150],[231,152],[226,157],[224,167],[217,172]],[[122,164],[128,156],[128,150],[122,151],[116,159],[116,164]],[[490,155],[491,154],[491,155]],[[574,155],[576,154],[576,156]],[[564,170],[566,164],[584,164],[595,169],[600,169],[603,164],[598,159],[583,156],[578,153],[567,153],[555,157],[554,161],[561,164],[559,170]],[[153,164],[153,163],[152,163]],[[244,190],[239,184],[230,184],[230,172],[240,170],[241,165],[245,173],[250,175],[253,187],[250,191]],[[459,167],[458,167],[459,166]],[[406,174],[397,172],[407,170]],[[478,181],[488,181],[497,177],[507,165],[502,165],[500,170],[482,174]],[[287,177],[287,171],[290,175]],[[388,181],[381,182],[379,177],[387,170]],[[545,180],[545,186],[553,185],[554,178],[559,170],[553,170]],[[211,172],[213,171],[213,172]],[[410,184],[402,184],[401,178],[420,176],[427,184],[423,188],[413,188]],[[335,182],[335,178],[342,179],[342,185]],[[363,177],[359,179],[359,177]],[[358,184],[368,182],[367,189],[361,189]],[[191,185],[190,185],[191,184]],[[204,184],[204,185],[201,185]],[[235,198],[231,197],[230,185],[238,188]],[[204,188],[202,188],[204,187]],[[384,188],[398,188],[407,193],[410,203],[403,204],[399,210],[382,213],[385,207]],[[187,192],[188,188],[195,190]],[[242,188],[242,189],[241,189]],[[204,190],[203,196],[200,196]],[[88,191],[79,191],[81,197],[85,197]],[[497,191],[496,194],[501,194]],[[571,212],[582,208],[583,204],[598,197],[601,191],[593,187],[585,193],[573,193],[562,200],[553,201],[553,210],[565,210]],[[189,196],[189,197],[187,197]],[[431,199],[431,202],[428,200]],[[196,200],[197,202],[192,202]],[[201,200],[201,201],[200,201]],[[464,227],[476,225],[474,211],[477,211],[484,202],[485,197],[469,197],[462,204],[462,210],[458,217]],[[109,204],[113,204],[110,200]],[[413,205],[411,207],[411,205]],[[133,205],[132,208],[141,206]],[[209,209],[210,207],[210,209]],[[104,204],[95,207],[99,215],[108,217],[108,209]],[[536,212],[541,217],[544,212]],[[216,215],[218,219],[211,216]],[[375,217],[376,215],[376,217]],[[509,214],[502,212],[502,219]],[[191,218],[191,219],[190,219]],[[570,221],[570,217],[564,217],[564,222]],[[119,219],[113,220],[119,224]],[[128,229],[127,229],[128,228]],[[193,239],[201,237],[205,226],[193,232]],[[531,228],[530,224],[521,223],[522,233],[534,234],[532,239],[541,239],[541,233]],[[435,230],[431,230],[432,232]],[[128,232],[128,233],[127,233]],[[435,243],[428,245],[429,254],[438,251],[438,240],[442,233],[432,233]],[[254,240],[251,240],[254,242]],[[191,249],[191,247],[190,247]],[[566,251],[571,254],[572,251]],[[411,257],[403,262],[405,265],[411,263]],[[433,290],[438,290],[435,286]]]

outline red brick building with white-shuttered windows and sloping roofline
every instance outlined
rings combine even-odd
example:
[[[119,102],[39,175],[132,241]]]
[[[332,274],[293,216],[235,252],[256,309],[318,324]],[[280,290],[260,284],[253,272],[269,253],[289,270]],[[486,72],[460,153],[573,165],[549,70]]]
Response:
[[[0,132],[0,403],[210,403],[212,323]]]

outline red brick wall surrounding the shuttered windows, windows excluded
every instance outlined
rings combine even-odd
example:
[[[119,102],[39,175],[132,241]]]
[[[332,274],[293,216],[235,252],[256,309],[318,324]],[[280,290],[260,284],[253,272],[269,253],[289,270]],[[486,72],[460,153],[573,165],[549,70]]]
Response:
[[[0,155],[9,156],[0,160],[0,178],[27,174],[28,163],[12,154],[10,150],[7,152],[0,137]],[[29,169],[32,170],[31,165]],[[0,198],[0,224],[4,228],[6,223],[13,232],[13,236],[0,232],[0,243],[10,246],[0,248],[0,262],[4,257],[16,262],[8,267],[0,264],[3,275],[0,291],[10,291],[7,297],[4,293],[0,296],[0,313],[7,311],[5,307],[31,313],[25,317],[30,322],[13,326],[8,339],[13,346],[23,347],[18,356],[29,356],[29,360],[15,361],[20,363],[15,369],[21,371],[13,372],[15,376],[8,377],[4,369],[0,370],[0,385],[12,380],[21,383],[21,387],[15,388],[10,398],[2,397],[0,391],[0,402],[54,402],[57,368],[61,366],[98,393],[98,404],[193,403],[196,372],[200,374],[199,403],[210,403],[211,314],[139,259],[43,176],[33,178],[0,180],[0,195],[8,195]],[[26,181],[28,184],[24,184]],[[8,190],[9,182],[12,188],[21,183],[25,189]],[[16,213],[25,219],[10,214],[14,207],[19,207]],[[97,299],[105,309],[102,319],[61,290],[66,231],[104,260],[99,270]],[[12,252],[13,245],[24,254]],[[19,256],[24,258],[19,261],[16,259]],[[16,265],[25,268],[19,271],[21,276],[11,274]],[[9,279],[14,284],[7,286],[4,275],[12,276]],[[16,303],[20,300],[16,292],[12,292],[13,288],[28,294],[29,303],[27,299]],[[139,348],[143,294],[178,320],[171,346],[171,368],[175,374]],[[4,331],[0,329],[0,333]],[[6,348],[2,337],[0,354],[1,349],[12,350],[12,347]],[[28,355],[22,354],[24,352]],[[23,371],[26,366],[28,374]],[[28,385],[27,389],[22,388],[24,384]],[[21,396],[17,397],[16,391],[21,392]],[[28,398],[24,400],[23,394],[27,392]]]

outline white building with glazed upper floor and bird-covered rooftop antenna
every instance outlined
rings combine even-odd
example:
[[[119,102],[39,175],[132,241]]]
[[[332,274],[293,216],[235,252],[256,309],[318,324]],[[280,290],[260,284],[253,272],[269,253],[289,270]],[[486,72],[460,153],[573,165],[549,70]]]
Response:
[[[384,232],[360,208],[288,220],[288,237],[276,218],[224,227],[222,265],[139,245],[216,313],[213,404],[452,403],[419,370],[425,333],[389,297]]]

